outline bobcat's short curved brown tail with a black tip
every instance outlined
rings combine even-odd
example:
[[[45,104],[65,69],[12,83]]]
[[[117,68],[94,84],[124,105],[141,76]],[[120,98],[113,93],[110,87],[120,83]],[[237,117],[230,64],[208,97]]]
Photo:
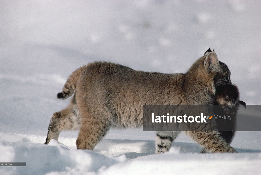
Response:
[[[87,68],[86,65],[76,69],[67,79],[64,88],[63,88],[63,92],[60,92],[57,94],[57,98],[58,99],[68,99],[70,96],[73,95],[73,92],[75,90],[76,87],[76,83],[78,81],[78,79],[82,76],[84,70]]]

